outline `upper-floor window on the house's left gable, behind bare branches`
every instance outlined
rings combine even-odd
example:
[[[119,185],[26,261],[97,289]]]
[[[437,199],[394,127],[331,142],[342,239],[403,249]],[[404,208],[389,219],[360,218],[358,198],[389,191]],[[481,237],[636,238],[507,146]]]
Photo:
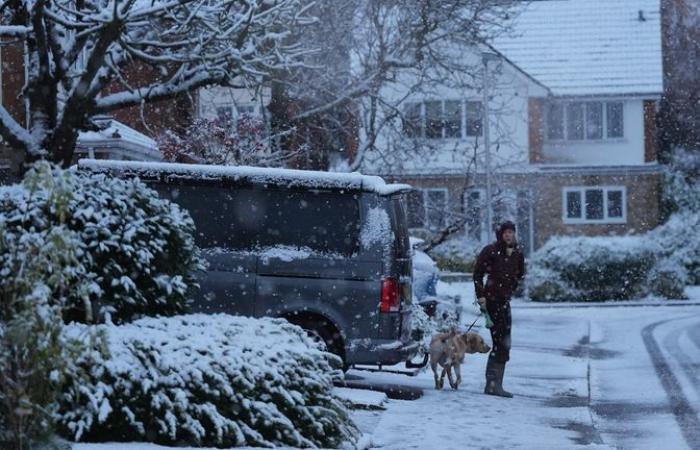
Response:
[[[481,116],[481,102],[463,102],[462,100],[411,102],[404,107],[403,134],[409,138],[426,139],[461,139],[464,136],[481,136]],[[466,129],[462,131],[465,127]]]

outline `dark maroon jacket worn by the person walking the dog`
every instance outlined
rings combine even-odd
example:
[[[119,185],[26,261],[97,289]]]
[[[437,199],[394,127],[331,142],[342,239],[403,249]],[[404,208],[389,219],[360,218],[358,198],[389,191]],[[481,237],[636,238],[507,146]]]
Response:
[[[485,297],[489,301],[510,300],[518,283],[525,276],[525,257],[517,245],[510,256],[507,244],[503,241],[503,231],[496,232],[496,242],[481,250],[474,266],[474,288],[476,298]],[[484,275],[488,281],[484,286]]]

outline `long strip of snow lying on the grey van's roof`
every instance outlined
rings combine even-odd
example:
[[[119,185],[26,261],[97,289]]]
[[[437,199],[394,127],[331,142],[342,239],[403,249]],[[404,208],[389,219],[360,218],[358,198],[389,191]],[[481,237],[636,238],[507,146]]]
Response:
[[[141,175],[175,174],[182,178],[247,180],[253,183],[317,188],[354,189],[391,195],[412,189],[407,184],[387,184],[382,178],[357,172],[338,173],[313,170],[276,169],[247,166],[217,166],[167,162],[81,159],[78,167],[93,171],[134,172]]]

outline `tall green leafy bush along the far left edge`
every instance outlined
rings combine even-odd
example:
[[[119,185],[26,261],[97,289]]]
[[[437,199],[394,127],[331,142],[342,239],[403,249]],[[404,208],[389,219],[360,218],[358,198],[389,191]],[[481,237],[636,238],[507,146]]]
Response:
[[[41,191],[46,207],[65,218],[67,178],[42,168],[27,175],[25,187],[3,188],[2,195],[31,198]],[[82,250],[62,223],[17,226],[17,216],[32,212],[28,203],[17,206],[0,213],[0,448],[58,448],[56,398],[67,377],[80,376],[73,361],[82,346],[63,336],[62,308],[69,296],[87,292]]]

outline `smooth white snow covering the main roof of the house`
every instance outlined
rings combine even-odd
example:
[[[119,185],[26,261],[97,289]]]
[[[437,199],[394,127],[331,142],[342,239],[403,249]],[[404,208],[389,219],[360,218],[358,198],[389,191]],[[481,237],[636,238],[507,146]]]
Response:
[[[494,47],[554,95],[663,91],[659,0],[540,0]]]

